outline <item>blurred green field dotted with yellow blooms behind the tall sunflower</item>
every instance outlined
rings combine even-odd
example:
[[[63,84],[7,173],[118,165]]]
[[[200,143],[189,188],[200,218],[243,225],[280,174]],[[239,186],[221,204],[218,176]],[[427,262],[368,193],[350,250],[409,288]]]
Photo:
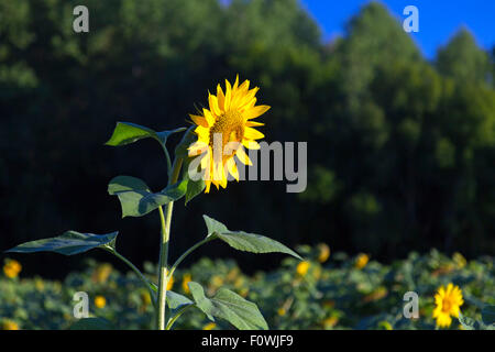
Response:
[[[463,296],[462,316],[482,321],[483,307],[495,304],[495,260],[466,261],[438,251],[411,253],[406,260],[381,264],[367,254],[331,253],[326,244],[302,245],[305,261],[284,258],[275,271],[245,275],[233,260],[201,258],[178,270],[168,284],[189,296],[196,280],[212,296],[228,287],[257,302],[270,329],[439,329],[433,318],[439,287],[457,285]],[[16,263],[15,265],[13,265]],[[87,260],[88,270],[73,272],[63,282],[23,278],[21,263],[6,260],[0,276],[2,329],[70,329],[77,321],[74,295],[87,293],[89,316],[108,321],[109,329],[152,329],[153,307],[148,292],[133,272],[121,273],[108,263]],[[18,266],[19,265],[19,266]],[[18,266],[12,272],[12,267]],[[155,265],[145,263],[150,278]],[[404,295],[419,297],[419,317],[405,318]],[[493,311],[492,311],[493,314]],[[485,318],[486,320],[486,318]],[[111,323],[110,323],[111,322]],[[189,310],[176,329],[232,329],[200,311]],[[465,329],[458,319],[443,329]]]

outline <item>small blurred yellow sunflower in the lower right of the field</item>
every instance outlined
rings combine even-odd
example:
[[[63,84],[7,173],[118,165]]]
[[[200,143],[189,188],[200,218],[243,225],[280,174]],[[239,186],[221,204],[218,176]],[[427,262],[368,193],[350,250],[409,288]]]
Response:
[[[464,304],[462,292],[452,284],[447,285],[447,288],[441,286],[435,295],[435,304],[437,307],[433,310],[433,318],[437,319],[437,326],[448,328],[452,323],[451,316],[458,318],[460,307]]]

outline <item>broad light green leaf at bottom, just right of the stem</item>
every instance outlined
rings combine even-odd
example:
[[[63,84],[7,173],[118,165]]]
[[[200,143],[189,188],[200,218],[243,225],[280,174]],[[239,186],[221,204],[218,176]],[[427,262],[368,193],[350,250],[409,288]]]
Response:
[[[238,294],[220,288],[213,298],[207,298],[201,285],[189,283],[189,289],[196,306],[215,321],[213,317],[224,319],[240,330],[268,329],[268,326],[256,305],[245,300]]]

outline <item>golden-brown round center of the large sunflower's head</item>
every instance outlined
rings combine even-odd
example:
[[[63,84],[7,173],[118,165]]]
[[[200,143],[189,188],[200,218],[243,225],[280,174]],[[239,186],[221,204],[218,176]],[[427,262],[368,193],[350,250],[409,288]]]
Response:
[[[210,129],[210,146],[221,138],[222,151],[229,142],[241,142],[244,136],[244,118],[235,110],[222,113]],[[217,142],[218,143],[218,142]]]

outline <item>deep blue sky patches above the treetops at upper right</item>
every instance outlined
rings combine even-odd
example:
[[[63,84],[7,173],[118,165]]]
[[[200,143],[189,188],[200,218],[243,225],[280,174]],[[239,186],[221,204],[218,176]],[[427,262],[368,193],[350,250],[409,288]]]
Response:
[[[344,33],[345,22],[366,0],[300,0],[320,24],[323,38]],[[403,21],[403,10],[413,4],[419,11],[419,32],[413,38],[427,58],[433,58],[438,46],[465,25],[483,48],[495,45],[495,0],[382,0],[394,16]]]

